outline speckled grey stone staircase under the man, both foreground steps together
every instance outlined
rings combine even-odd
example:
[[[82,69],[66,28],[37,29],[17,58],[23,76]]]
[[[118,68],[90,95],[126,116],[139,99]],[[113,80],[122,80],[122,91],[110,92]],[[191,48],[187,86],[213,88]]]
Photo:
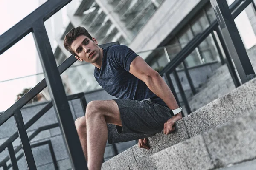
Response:
[[[226,74],[224,67],[215,71],[213,77],[219,74],[216,77],[226,79],[223,76]],[[213,77],[209,81],[214,81]],[[232,84],[225,82],[227,84],[222,83]],[[218,84],[215,81],[216,83]],[[207,86],[202,89],[207,89]],[[256,126],[253,125],[256,114],[256,79],[220,98],[217,93],[207,94],[207,97],[210,95],[217,96],[217,99],[211,98],[214,101],[208,101],[209,104],[178,121],[175,133],[167,136],[158,133],[149,138],[150,150],[141,149],[136,144],[106,161],[102,164],[102,169],[212,170],[255,159],[256,147],[253,146],[256,145],[256,137],[252,130],[256,131]],[[250,124],[247,125],[248,121]],[[247,147],[250,149],[246,149]]]

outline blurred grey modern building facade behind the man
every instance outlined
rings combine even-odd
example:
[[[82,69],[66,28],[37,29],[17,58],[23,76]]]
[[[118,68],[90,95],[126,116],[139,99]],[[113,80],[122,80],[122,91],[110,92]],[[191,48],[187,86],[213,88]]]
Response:
[[[228,0],[229,5],[233,1]],[[250,17],[246,15],[243,20],[251,23],[246,27],[254,30],[253,20],[256,17],[253,8],[247,7],[245,11]],[[65,34],[74,27],[83,26],[99,44],[119,41],[137,52],[153,69],[160,71],[214,20],[209,0],[73,0],[47,20],[45,26],[58,65],[70,56],[63,46]],[[215,32],[187,57],[185,64],[188,68],[220,63],[214,37],[218,40]],[[251,43],[255,44],[254,32],[251,37]],[[180,71],[183,67],[183,64],[179,66]],[[93,65],[76,62],[61,76],[66,93],[101,88],[93,77],[93,71]]]

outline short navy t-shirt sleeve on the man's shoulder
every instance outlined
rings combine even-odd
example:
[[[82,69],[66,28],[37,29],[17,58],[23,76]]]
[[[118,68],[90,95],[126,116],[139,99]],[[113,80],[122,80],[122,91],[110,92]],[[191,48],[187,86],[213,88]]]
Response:
[[[114,45],[110,49],[111,58],[113,63],[117,66],[130,71],[131,62],[138,56],[131,48],[126,45]]]

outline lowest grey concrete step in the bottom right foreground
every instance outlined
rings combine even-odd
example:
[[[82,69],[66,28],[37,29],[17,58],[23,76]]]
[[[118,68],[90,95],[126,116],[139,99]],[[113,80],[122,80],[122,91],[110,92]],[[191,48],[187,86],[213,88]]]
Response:
[[[212,170],[256,160],[256,112],[130,165],[130,170]]]

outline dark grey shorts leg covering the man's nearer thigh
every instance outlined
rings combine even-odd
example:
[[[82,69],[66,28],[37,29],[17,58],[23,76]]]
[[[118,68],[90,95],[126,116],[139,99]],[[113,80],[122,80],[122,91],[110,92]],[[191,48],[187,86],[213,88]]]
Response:
[[[155,134],[163,130],[164,123],[172,116],[170,109],[151,102],[150,99],[115,100],[120,113],[122,127],[116,126],[119,134],[140,133]]]

